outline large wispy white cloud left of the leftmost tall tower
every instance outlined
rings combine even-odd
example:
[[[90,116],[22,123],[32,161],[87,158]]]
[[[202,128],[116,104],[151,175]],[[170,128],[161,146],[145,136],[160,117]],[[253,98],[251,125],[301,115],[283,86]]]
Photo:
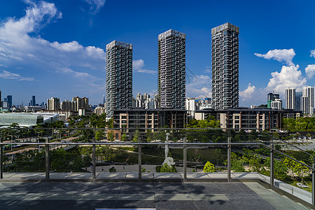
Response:
[[[50,42],[31,36],[56,18],[62,18],[54,3],[26,1],[25,16],[8,18],[0,25],[0,62],[5,66],[24,66],[27,71],[53,71],[60,68],[104,70],[105,52],[94,46],[84,47],[77,41]],[[76,76],[77,74],[73,74]]]

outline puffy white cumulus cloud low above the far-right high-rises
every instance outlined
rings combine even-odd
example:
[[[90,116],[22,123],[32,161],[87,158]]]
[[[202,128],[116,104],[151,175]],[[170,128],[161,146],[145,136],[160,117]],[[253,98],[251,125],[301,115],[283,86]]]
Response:
[[[300,89],[303,85],[306,85],[307,79],[302,76],[302,72],[298,70],[299,68],[299,65],[282,66],[280,72],[272,72],[272,78],[269,80],[266,90],[284,93],[288,87]]]

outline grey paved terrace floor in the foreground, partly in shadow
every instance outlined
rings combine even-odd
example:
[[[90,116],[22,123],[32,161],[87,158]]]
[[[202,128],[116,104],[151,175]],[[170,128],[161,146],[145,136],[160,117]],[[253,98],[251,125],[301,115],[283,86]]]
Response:
[[[82,179],[80,174],[56,173],[54,176],[58,179],[62,174],[66,176],[64,181],[38,181],[43,174],[4,174],[6,179],[0,181],[0,209],[308,209],[255,181],[82,182],[69,180],[71,176]],[[188,175],[198,173],[194,174]],[[204,175],[209,176],[200,174]],[[167,174],[160,176],[167,178]],[[34,181],[17,181],[27,177]],[[14,182],[10,181],[12,178]]]

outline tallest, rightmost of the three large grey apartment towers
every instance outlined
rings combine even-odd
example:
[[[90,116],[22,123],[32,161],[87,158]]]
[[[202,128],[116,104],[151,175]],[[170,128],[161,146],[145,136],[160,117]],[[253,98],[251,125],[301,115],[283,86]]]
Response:
[[[212,108],[239,106],[239,27],[225,23],[211,29]]]

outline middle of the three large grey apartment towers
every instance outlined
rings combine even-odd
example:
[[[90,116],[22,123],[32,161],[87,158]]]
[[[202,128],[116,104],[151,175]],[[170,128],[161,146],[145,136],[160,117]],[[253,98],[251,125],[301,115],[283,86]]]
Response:
[[[185,109],[186,34],[169,29],[158,36],[158,107]]]

